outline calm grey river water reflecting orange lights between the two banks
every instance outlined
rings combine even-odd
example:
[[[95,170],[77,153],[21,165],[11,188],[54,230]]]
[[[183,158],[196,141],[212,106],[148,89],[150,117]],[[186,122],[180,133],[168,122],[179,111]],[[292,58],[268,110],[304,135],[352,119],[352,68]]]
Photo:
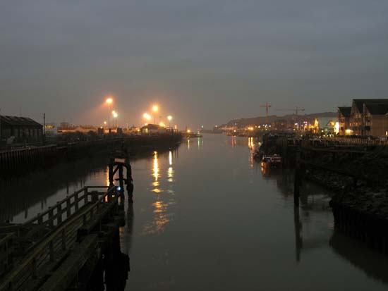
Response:
[[[334,232],[330,193],[304,185],[294,209],[292,173],[262,169],[254,144],[205,135],[133,162],[127,290],[387,290],[387,258]],[[20,222],[84,184],[106,185],[104,165],[18,182],[27,192],[2,188],[2,218]]]

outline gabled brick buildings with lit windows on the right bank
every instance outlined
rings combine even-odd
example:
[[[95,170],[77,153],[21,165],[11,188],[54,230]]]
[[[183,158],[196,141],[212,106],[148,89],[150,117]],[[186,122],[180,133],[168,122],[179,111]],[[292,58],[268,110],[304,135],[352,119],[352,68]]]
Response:
[[[382,137],[388,135],[388,99],[353,99],[338,108],[339,133]]]

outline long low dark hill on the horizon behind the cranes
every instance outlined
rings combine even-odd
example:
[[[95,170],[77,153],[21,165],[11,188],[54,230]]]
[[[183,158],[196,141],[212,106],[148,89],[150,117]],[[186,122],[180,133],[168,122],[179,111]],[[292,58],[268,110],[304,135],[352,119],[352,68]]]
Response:
[[[322,117],[337,117],[337,112],[322,112],[322,113],[311,113],[311,114],[304,114],[304,115],[298,115],[298,119],[300,121],[308,121],[310,123],[313,123],[315,118],[322,118]],[[277,120],[295,120],[296,115],[295,114],[288,114],[286,116],[268,116],[268,123],[274,123]],[[230,120],[226,125],[251,125],[251,124],[265,124],[267,122],[267,118],[265,116],[257,116],[257,117],[251,117],[251,118],[240,118],[240,119],[234,119]]]

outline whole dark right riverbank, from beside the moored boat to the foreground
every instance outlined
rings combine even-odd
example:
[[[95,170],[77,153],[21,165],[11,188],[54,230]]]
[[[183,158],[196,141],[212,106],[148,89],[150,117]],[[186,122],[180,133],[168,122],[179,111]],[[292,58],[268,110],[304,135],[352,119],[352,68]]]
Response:
[[[267,144],[266,144],[267,141]],[[335,228],[388,253],[388,148],[303,147],[281,151],[279,139],[265,140],[262,151],[296,163],[301,180],[336,193],[330,206]]]

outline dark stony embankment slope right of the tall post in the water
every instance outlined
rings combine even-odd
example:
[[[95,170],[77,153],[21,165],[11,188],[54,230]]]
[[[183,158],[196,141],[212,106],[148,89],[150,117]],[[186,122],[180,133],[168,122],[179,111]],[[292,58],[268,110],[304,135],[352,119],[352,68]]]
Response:
[[[388,149],[350,156],[316,158],[315,166],[306,163],[305,178],[336,192],[330,206],[337,229],[388,254]]]

